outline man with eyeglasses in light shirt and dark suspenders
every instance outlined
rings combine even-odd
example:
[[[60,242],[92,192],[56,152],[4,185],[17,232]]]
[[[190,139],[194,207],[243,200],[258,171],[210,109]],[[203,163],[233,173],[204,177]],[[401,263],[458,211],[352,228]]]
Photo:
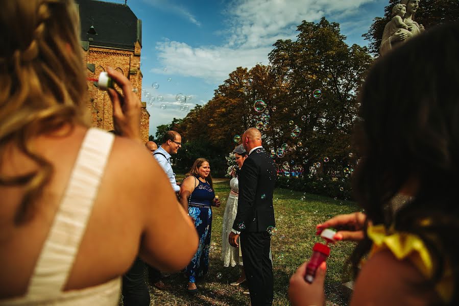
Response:
[[[178,194],[180,186],[175,180],[175,173],[172,170],[171,154],[177,154],[179,148],[182,147],[182,136],[175,131],[168,131],[162,138],[162,144],[153,152],[154,158],[158,164],[166,172],[167,178],[171,182],[172,189]],[[151,266],[148,266],[148,278],[150,284],[158,289],[170,289],[170,285],[166,285],[161,281],[161,272]]]

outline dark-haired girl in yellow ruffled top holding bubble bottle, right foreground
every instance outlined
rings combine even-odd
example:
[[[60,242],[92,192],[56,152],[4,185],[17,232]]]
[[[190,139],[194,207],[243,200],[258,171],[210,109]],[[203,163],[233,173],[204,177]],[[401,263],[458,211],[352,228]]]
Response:
[[[358,241],[351,305],[459,304],[458,55],[459,24],[441,25],[384,55],[368,73],[356,134],[363,159],[353,182],[366,215],[318,225],[353,228],[335,236]],[[412,199],[394,214],[398,194]],[[291,302],[322,305],[325,265],[308,284],[305,264],[291,278]]]

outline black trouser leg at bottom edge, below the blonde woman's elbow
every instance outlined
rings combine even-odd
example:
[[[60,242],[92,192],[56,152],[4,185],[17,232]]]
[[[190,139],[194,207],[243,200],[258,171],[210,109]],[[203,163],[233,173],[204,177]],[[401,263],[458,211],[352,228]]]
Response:
[[[123,275],[123,305],[150,305],[150,292],[143,274],[144,267],[143,261],[137,257],[128,272]]]

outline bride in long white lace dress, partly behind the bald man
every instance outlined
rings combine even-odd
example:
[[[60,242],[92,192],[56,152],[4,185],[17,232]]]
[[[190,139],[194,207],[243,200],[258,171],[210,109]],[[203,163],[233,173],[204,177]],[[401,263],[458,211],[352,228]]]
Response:
[[[231,232],[233,227],[234,219],[237,214],[237,199],[239,192],[239,183],[237,180],[237,173],[239,169],[244,164],[245,159],[248,157],[246,150],[242,145],[238,145],[233,150],[234,156],[236,158],[236,167],[231,171],[232,179],[230,181],[230,194],[228,196],[228,201],[226,202],[226,209],[223,215],[223,228],[222,228],[222,260],[224,267],[234,267],[238,265],[241,269],[239,279],[236,282],[231,283],[231,286],[238,286],[240,283],[243,283],[246,280],[246,274],[244,272],[242,253],[240,252],[240,242],[239,247],[232,247],[228,243],[228,235]]]

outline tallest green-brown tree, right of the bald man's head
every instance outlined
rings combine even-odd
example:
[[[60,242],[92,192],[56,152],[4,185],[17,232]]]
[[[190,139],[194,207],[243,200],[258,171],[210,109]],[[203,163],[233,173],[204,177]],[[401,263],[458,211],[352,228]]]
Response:
[[[286,158],[308,160],[306,165],[324,157],[346,161],[352,150],[356,95],[372,58],[366,47],[348,46],[340,25],[325,18],[303,21],[298,31],[296,41],[278,40],[269,56],[283,89],[273,121],[274,142],[296,147]],[[301,131],[297,137],[292,137],[294,128]]]

